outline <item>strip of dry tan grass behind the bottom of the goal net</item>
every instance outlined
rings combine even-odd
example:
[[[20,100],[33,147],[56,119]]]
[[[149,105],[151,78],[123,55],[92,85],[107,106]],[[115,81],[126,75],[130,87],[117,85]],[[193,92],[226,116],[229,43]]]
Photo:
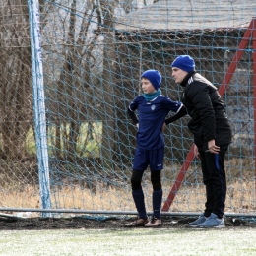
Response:
[[[172,183],[163,182],[163,200],[167,198]],[[144,181],[147,210],[152,211],[152,186]],[[63,187],[51,191],[52,208],[135,211],[129,187],[112,188],[99,184],[96,192],[81,187]],[[2,190],[1,207],[40,208],[39,190],[25,186],[22,191]],[[205,190],[201,184],[182,185],[170,208],[173,212],[199,212],[204,209]],[[225,212],[252,213],[256,210],[255,183],[236,181],[228,184]]]

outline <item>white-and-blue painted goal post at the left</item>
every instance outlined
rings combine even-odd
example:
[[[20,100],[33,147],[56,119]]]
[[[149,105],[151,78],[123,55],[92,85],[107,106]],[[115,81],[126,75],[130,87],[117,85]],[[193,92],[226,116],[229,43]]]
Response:
[[[39,172],[41,208],[50,208],[50,185],[48,149],[46,136],[46,115],[44,104],[43,71],[41,56],[41,35],[39,27],[39,4],[28,0],[32,48],[32,90],[36,151]],[[49,216],[48,214],[44,216]]]

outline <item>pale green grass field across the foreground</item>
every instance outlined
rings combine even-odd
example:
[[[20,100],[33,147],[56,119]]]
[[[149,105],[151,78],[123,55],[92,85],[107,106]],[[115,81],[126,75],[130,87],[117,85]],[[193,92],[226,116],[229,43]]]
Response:
[[[0,255],[256,255],[253,228],[0,231]]]

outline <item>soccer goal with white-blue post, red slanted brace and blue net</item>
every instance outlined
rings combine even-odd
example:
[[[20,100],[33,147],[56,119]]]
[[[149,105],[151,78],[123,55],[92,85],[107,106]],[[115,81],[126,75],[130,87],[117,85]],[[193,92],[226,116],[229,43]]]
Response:
[[[28,0],[28,6],[6,3],[0,10],[9,19],[0,25],[7,38],[0,46],[5,67],[1,111],[8,116],[9,109],[13,117],[1,124],[1,150],[6,149],[0,162],[2,197],[13,193],[14,198],[4,206],[135,211],[130,177],[137,130],[127,106],[141,94],[140,75],[146,69],[159,70],[161,93],[180,100],[182,88],[171,77],[170,63],[189,54],[196,70],[219,88],[232,126],[225,211],[255,212],[256,3]],[[24,90],[16,90],[20,82],[14,74]],[[10,100],[16,98],[8,109],[4,88]],[[22,115],[16,114],[19,107]],[[201,167],[193,158],[188,120],[186,116],[164,130],[162,211],[169,214],[204,209]],[[13,127],[20,127],[19,132]],[[148,170],[143,189],[152,211]],[[17,191],[29,200],[19,203]]]

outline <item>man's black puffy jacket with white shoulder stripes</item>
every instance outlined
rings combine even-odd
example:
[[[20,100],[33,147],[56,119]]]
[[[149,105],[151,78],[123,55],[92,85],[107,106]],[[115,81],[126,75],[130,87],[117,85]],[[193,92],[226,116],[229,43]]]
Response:
[[[195,71],[190,72],[180,85],[184,87],[182,103],[191,117],[188,128],[199,150],[206,151],[208,141],[212,139],[217,146],[231,143],[231,127],[217,88]]]

